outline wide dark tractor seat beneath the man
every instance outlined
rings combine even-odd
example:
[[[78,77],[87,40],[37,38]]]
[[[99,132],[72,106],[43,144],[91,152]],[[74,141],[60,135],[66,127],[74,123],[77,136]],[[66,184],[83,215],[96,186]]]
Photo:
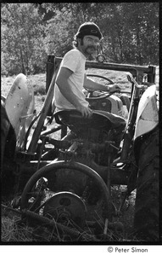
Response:
[[[93,110],[91,118],[83,118],[81,113],[75,109],[61,110],[54,113],[54,118],[59,125],[77,126],[79,128],[92,127],[98,130],[108,129],[108,127],[109,129],[124,128],[126,125],[125,119],[102,110]]]

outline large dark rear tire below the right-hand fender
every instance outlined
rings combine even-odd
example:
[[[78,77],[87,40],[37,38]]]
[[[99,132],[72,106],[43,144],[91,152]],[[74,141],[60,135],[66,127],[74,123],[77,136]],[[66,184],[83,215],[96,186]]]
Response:
[[[142,141],[134,229],[137,239],[159,241],[159,129]]]

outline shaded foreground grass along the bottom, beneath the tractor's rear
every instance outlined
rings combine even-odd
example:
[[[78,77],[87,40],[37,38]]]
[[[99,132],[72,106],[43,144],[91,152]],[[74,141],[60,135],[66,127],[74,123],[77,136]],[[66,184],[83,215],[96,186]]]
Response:
[[[112,197],[115,201],[115,207],[120,205],[122,198],[122,192],[126,189],[126,186],[114,186],[112,188]],[[134,192],[133,192],[134,193]],[[10,242],[102,242],[102,241],[136,241],[135,237],[131,234],[133,213],[134,213],[134,202],[135,195],[131,195],[129,200],[126,200],[126,205],[122,214],[118,219],[114,219],[115,222],[121,222],[124,225],[124,230],[107,230],[106,236],[94,236],[91,229],[86,228],[81,230],[77,228],[73,223],[70,223],[69,219],[64,220],[62,223],[65,227],[74,230],[75,232],[80,232],[79,236],[74,236],[69,232],[62,232],[59,227],[47,229],[44,224],[36,223],[32,220],[31,224],[24,224],[20,221],[20,214],[17,214],[8,209],[2,207],[2,218],[1,218],[1,241],[5,243]],[[5,202],[4,202],[5,203]],[[10,207],[10,202],[6,202],[8,207]],[[129,207],[128,207],[129,206]],[[97,222],[99,221],[99,218]],[[98,222],[98,226],[100,226]],[[119,224],[120,227],[120,224]],[[71,230],[71,231],[72,231]],[[73,232],[73,231],[72,231]],[[101,234],[103,234],[103,228],[101,229]]]

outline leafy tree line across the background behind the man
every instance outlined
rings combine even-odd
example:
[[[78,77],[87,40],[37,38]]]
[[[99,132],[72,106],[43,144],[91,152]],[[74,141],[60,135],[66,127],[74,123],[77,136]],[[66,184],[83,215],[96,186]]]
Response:
[[[100,27],[106,61],[159,65],[159,3],[2,3],[2,74],[44,73],[85,21]]]

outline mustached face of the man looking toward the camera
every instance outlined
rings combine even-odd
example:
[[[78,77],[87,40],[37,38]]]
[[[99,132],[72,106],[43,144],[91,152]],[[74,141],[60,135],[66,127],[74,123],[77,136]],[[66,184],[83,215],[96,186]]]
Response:
[[[96,52],[99,38],[95,36],[84,36],[80,41],[81,51],[84,55],[92,55]]]

